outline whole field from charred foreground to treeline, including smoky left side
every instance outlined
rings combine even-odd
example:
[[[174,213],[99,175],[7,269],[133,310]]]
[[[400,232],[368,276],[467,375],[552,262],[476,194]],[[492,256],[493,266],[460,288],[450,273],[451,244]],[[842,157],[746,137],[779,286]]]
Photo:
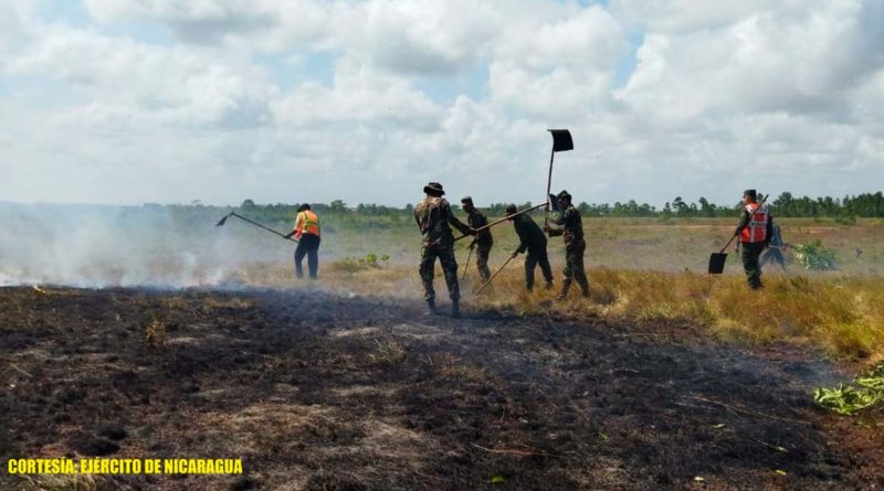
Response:
[[[884,485],[884,408],[813,403],[884,357],[881,221],[781,221],[838,269],[772,269],[754,293],[733,257],[704,273],[729,221],[587,220],[590,298],[526,292],[522,259],[475,295],[471,266],[452,319],[423,314],[408,220],[330,217],[320,278],[296,281],[292,244],[203,218],[0,247],[0,465],[233,456],[245,474],[0,488]],[[512,227],[495,244],[492,268]],[[552,241],[557,282],[562,255]],[[444,311],[441,271],[435,286]]]

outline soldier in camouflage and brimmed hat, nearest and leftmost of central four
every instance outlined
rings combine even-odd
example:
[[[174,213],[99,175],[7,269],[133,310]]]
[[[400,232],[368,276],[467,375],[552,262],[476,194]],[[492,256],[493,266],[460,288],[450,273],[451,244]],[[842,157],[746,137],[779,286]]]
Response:
[[[451,213],[449,202],[442,198],[445,191],[442,184],[431,182],[423,186],[427,196],[414,206],[414,220],[423,235],[423,247],[421,248],[420,274],[423,281],[424,299],[429,306],[430,313],[438,313],[435,309],[435,291],[433,290],[433,276],[435,269],[435,258],[442,264],[442,271],[445,275],[445,285],[449,287],[451,297],[452,317],[461,317],[459,299],[461,292],[457,287],[457,261],[454,259],[454,236],[449,224],[456,227],[463,234],[475,235],[475,230],[461,223]]]

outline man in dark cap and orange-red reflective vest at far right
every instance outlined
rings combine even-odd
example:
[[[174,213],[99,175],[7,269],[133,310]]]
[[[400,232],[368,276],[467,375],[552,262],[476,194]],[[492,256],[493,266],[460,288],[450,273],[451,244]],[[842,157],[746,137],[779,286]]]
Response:
[[[743,220],[740,220],[734,235],[739,237],[738,248],[741,248],[743,269],[746,279],[754,290],[761,288],[761,265],[758,258],[774,236],[774,218],[765,206],[758,204],[755,190],[743,192]]]

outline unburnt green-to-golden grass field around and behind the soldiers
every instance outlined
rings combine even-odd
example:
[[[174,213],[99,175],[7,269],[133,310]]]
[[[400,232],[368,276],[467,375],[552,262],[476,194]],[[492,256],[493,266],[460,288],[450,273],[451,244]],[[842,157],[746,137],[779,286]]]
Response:
[[[525,314],[567,313],[675,325],[701,325],[727,342],[765,344],[778,341],[814,346],[842,360],[876,362],[884,356],[884,221],[861,220],[854,225],[834,221],[787,218],[778,223],[787,243],[819,239],[836,258],[836,270],[811,271],[790,264],[783,271],[769,266],[767,288],[751,293],[741,264],[730,254],[723,276],[705,274],[711,252],[720,249],[733,232],[725,220],[614,220],[585,223],[586,264],[591,298],[555,302],[556,291],[524,291],[523,261],[503,271],[493,288],[470,295],[478,280],[466,271],[465,305],[507,308]],[[419,237],[401,224],[383,232],[332,233],[323,245],[318,285],[359,295],[419,297],[417,276]],[[457,243],[463,274],[467,241]],[[328,245],[328,247],[326,247]],[[517,242],[512,227],[495,228],[491,267],[503,264]],[[859,250],[859,254],[857,254]],[[733,253],[733,249],[729,250]],[[378,267],[360,263],[369,254],[389,255]],[[562,244],[550,241],[550,260],[560,281]],[[329,257],[330,256],[330,257]],[[790,254],[787,253],[787,258]],[[472,263],[474,265],[474,263]],[[539,270],[537,271],[539,278]],[[232,273],[251,286],[292,285],[292,266],[284,261],[253,263]],[[441,269],[436,291],[444,298]]]

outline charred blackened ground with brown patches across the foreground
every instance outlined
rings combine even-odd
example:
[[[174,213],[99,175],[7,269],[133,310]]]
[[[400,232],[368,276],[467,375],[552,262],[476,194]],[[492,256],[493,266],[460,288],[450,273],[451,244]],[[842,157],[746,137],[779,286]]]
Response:
[[[76,453],[245,469],[105,489],[884,485],[881,413],[860,427],[813,407],[838,375],[801,354],[316,291],[6,288],[0,301],[3,468]],[[160,348],[145,342],[152,319]]]

